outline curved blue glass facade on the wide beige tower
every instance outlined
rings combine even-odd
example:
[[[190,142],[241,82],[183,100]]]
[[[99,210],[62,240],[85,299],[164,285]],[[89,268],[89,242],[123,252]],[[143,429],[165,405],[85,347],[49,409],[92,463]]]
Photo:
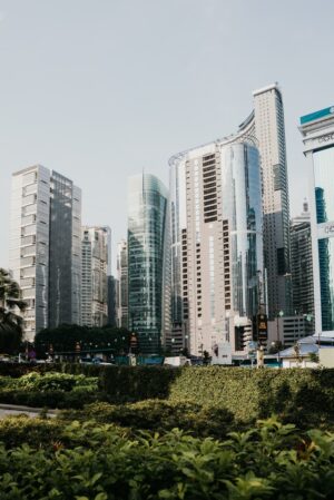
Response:
[[[230,234],[232,308],[252,318],[258,312],[258,272],[263,272],[258,150],[232,144],[223,146],[220,156],[223,220]]]

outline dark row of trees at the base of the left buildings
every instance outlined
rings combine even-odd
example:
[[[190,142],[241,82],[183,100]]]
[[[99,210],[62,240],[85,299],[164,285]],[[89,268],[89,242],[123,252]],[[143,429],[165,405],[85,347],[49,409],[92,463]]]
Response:
[[[45,329],[36,334],[35,346],[37,355],[45,357],[52,346],[53,353],[75,353],[79,343],[80,352],[96,352],[110,350],[118,354],[128,352],[130,332],[116,326],[88,327],[79,325],[60,325],[56,329]]]

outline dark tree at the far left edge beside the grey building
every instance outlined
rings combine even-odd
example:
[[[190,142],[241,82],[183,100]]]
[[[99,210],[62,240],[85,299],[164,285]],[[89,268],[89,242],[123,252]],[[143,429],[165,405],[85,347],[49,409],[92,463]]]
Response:
[[[23,335],[23,312],[27,304],[21,291],[9,272],[0,267],[0,352],[13,354],[19,351]]]

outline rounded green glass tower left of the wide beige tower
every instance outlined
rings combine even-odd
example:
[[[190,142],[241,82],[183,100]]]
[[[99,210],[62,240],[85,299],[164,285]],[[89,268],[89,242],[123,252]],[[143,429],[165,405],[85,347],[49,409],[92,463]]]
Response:
[[[155,176],[128,184],[128,323],[143,353],[159,353],[169,329],[168,192]]]

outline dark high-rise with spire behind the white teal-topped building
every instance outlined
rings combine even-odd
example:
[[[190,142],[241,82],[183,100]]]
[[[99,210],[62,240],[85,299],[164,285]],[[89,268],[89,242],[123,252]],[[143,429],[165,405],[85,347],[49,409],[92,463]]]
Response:
[[[303,213],[291,222],[291,274],[293,285],[293,308],[297,315],[314,318],[313,262],[311,214],[308,204]]]

